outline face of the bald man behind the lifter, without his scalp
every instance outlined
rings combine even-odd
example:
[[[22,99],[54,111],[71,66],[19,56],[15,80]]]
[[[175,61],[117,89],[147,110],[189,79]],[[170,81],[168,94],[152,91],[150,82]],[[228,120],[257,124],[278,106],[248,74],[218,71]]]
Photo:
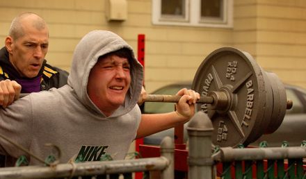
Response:
[[[24,26],[24,35],[13,40],[6,38],[6,47],[10,54],[10,62],[19,75],[33,78],[38,75],[42,62],[48,51],[48,29],[38,30],[33,26]]]

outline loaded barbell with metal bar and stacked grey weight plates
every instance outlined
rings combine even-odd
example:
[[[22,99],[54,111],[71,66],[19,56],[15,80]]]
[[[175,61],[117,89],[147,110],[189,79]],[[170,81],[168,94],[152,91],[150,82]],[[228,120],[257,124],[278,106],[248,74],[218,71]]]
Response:
[[[215,146],[238,146],[273,133],[293,105],[276,74],[266,72],[249,53],[233,47],[216,49],[193,79],[199,92],[195,108],[211,119]],[[177,102],[181,96],[148,94],[145,102]]]

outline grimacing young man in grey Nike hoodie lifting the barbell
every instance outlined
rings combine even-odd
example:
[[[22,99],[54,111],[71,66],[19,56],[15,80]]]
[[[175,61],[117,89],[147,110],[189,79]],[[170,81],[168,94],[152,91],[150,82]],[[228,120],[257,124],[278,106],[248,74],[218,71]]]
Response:
[[[74,51],[68,84],[25,96],[0,111],[0,134],[45,159],[45,144],[61,148],[60,162],[97,161],[104,155],[122,160],[134,139],[185,123],[200,94],[181,89],[176,111],[141,114],[137,105],[143,67],[131,46],[109,31],[85,35]],[[28,153],[0,137],[0,153]],[[12,161],[8,165],[12,165]]]

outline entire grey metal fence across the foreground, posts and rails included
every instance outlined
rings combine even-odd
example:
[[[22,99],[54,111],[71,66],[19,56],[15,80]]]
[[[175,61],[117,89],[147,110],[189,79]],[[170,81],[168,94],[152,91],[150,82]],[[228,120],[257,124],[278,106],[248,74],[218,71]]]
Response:
[[[215,148],[211,152],[213,125],[198,112],[188,124],[188,178],[306,178],[300,147]],[[8,167],[0,178],[132,178],[137,171],[161,171],[162,179],[175,178],[175,147],[172,139],[161,142],[160,157],[104,162],[57,164],[52,167]],[[182,161],[176,161],[182,162]],[[146,172],[147,173],[147,172]],[[120,174],[120,175],[119,175]],[[144,178],[150,178],[145,176]]]

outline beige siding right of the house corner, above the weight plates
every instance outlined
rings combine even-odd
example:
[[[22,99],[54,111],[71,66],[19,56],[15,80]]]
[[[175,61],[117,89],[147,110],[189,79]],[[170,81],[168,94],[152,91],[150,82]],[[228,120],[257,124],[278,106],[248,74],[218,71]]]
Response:
[[[284,83],[306,87],[306,1],[259,1],[257,60]]]

